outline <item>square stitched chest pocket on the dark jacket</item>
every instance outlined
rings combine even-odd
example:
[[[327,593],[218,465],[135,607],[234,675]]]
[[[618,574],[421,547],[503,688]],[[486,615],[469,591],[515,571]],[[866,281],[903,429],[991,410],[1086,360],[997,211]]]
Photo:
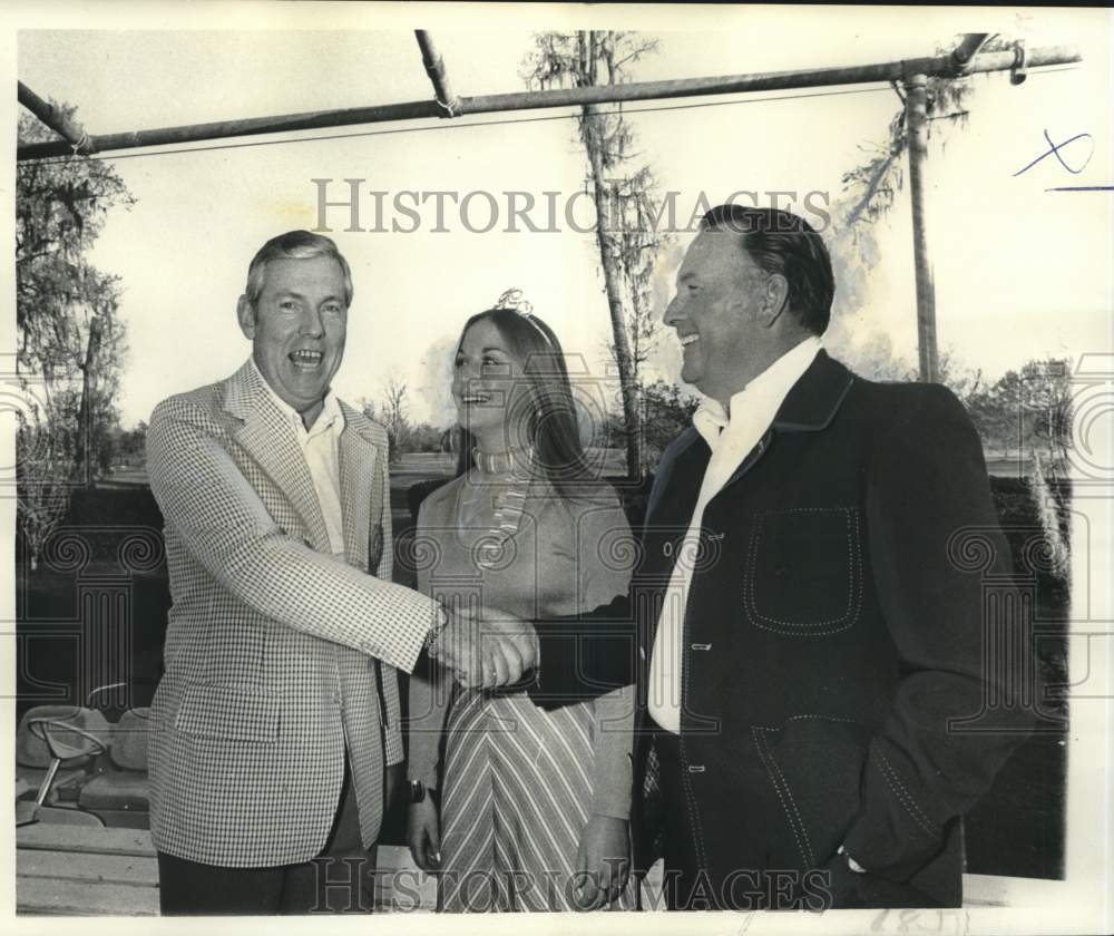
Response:
[[[862,607],[862,543],[854,507],[801,507],[754,518],[743,610],[785,636],[846,631]]]

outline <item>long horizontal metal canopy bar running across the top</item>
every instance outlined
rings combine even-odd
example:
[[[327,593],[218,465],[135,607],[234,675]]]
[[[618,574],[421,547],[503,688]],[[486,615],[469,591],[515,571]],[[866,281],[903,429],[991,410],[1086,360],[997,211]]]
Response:
[[[964,67],[964,74],[976,71],[1006,71],[1017,65],[1014,50],[986,52],[975,56]],[[1067,65],[1081,61],[1082,56],[1073,46],[1047,46],[1033,49],[1025,58],[1027,68]],[[732,95],[747,91],[818,88],[830,85],[857,85],[877,81],[902,81],[913,75],[948,77],[957,74],[957,62],[951,53],[919,59],[840,68],[815,68],[803,71],[772,71],[756,75],[729,75],[716,78],[684,78],[672,81],[638,81],[629,85],[603,85],[584,88],[556,88],[547,91],[522,91],[509,95],[462,97],[453,108],[453,116],[469,114],[497,114],[508,110],[536,110],[549,107],[577,107],[585,104],[617,104],[636,100],[657,100],[701,95]],[[222,120],[214,124],[193,124],[184,127],[164,127],[135,130],[126,134],[105,134],[92,137],[90,143],[99,153],[135,149],[144,146],[195,143],[207,139],[277,134],[292,130],[346,127],[354,124],[383,124],[392,120],[412,120],[443,117],[444,109],[436,100],[408,101],[374,107],[353,107],[343,110],[317,110],[309,114],[287,114],[277,117],[255,117],[246,120]],[[16,158],[43,159],[63,156],[70,152],[66,143],[39,143],[20,146]]]

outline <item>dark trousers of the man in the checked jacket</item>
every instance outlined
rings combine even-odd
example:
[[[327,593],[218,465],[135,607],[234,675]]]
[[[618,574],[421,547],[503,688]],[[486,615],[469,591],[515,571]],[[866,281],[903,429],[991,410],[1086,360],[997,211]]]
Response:
[[[340,803],[319,857],[297,865],[228,868],[159,851],[159,906],[164,916],[371,913],[374,872],[374,851],[364,850],[360,840],[345,758]]]

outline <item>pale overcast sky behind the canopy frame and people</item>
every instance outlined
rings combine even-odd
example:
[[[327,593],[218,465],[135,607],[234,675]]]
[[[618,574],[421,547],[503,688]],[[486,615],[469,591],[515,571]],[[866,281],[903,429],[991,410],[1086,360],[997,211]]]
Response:
[[[19,77],[41,96],[77,105],[90,133],[426,99],[430,86],[414,26],[432,31],[458,94],[521,90],[519,67],[532,29],[547,22],[583,27],[588,16],[600,25],[598,10],[573,9],[560,19],[553,8],[438,8],[414,18],[405,10],[294,3],[274,4],[267,20],[258,7],[234,4],[223,7],[231,12],[219,21],[198,19],[205,13],[199,6],[165,14],[127,10],[53,20],[45,12],[42,29],[19,37]],[[667,10],[609,16],[607,26],[642,27],[659,40],[658,52],[632,68],[635,80],[929,55],[938,41],[971,27],[964,10],[911,8],[850,14],[690,6],[672,19]],[[969,126],[935,128],[928,209],[940,344],[994,377],[1034,357],[1108,347],[1114,196],[1046,189],[1111,184],[1114,152],[1107,11],[988,16],[979,26],[1024,37],[1029,46],[1074,42],[1084,55],[1082,67],[1032,74],[1017,87],[1004,74],[979,77]],[[222,31],[198,29],[217,22]],[[62,25],[100,28],[57,29]],[[677,193],[682,223],[702,193],[709,204],[740,189],[794,192],[798,207],[809,192],[834,199],[842,174],[864,158],[862,147],[886,139],[900,103],[877,85],[818,91],[636,105],[632,109],[643,111],[631,118],[637,149],[662,188]],[[412,388],[412,416],[446,425],[448,350],[462,321],[510,286],[524,290],[567,352],[602,373],[608,325],[595,242],[563,216],[585,177],[569,116],[534,111],[348,127],[287,135],[285,143],[254,138],[241,143],[268,145],[115,159],[137,204],[109,216],[92,259],[124,283],[130,345],[119,401],[124,423],[146,419],[162,398],[226,377],[243,362],[250,347],[236,326],[235,303],[247,262],[267,237],[316,226],[314,178],[336,179],[333,198],[348,195],[342,179],[365,179],[364,226],[374,221],[372,189],[388,193],[388,228],[394,220],[410,224],[391,208],[402,191],[490,193],[502,203],[499,224],[488,233],[469,232],[463,223],[487,223],[486,195],[472,197],[465,220],[447,203],[444,233],[430,230],[431,203],[414,233],[348,233],[348,213],[331,211],[332,236],[355,283],[335,383],[342,396],[377,398],[394,373]],[[1089,134],[1093,142],[1078,140],[1063,153],[1076,167],[1089,153],[1089,163],[1073,175],[1048,157],[1015,177],[1047,150],[1046,130],[1057,142]],[[326,135],[352,136],[306,139]],[[554,196],[559,230],[507,233],[505,193],[511,191],[543,204],[543,193],[560,193]],[[898,353],[916,361],[908,205],[906,188],[876,232],[880,260],[853,330],[863,339],[885,333]],[[534,216],[546,225],[544,212]],[[688,238],[681,235],[680,247]],[[658,311],[680,247],[662,257]],[[678,360],[671,332],[654,365],[673,379]]]

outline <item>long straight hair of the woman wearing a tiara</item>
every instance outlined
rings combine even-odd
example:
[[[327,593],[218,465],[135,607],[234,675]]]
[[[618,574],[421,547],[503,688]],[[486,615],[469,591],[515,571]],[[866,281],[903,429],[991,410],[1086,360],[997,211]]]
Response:
[[[457,353],[468,330],[480,321],[496,326],[507,344],[507,350],[522,368],[525,394],[507,394],[508,406],[525,410],[522,437],[508,439],[508,448],[527,443],[534,447],[535,464],[549,482],[565,497],[583,491],[593,479],[585,462],[580,445],[573,388],[565,367],[565,352],[553,329],[537,315],[525,315],[515,309],[488,309],[465,322],[457,342]],[[511,403],[511,400],[521,402]],[[514,422],[518,416],[508,411],[506,419]],[[511,426],[516,432],[518,427]],[[463,426],[458,429],[460,448],[457,452],[457,475],[463,475],[471,465],[476,440]],[[516,432],[517,435],[517,432]]]

